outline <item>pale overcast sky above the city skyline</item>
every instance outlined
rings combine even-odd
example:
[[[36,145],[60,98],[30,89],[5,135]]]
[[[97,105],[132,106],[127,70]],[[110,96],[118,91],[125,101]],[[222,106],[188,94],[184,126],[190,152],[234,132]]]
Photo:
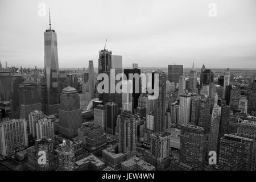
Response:
[[[255,0],[1,0],[3,67],[44,67],[49,7],[60,68],[98,67],[106,39],[123,67],[256,68]]]

